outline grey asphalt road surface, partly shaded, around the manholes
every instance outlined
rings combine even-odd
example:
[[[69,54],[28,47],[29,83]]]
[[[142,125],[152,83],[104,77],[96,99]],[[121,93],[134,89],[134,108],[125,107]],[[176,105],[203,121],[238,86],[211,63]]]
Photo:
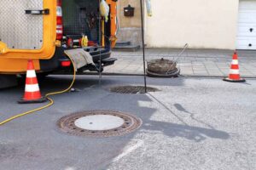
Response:
[[[43,93],[64,88],[69,76],[47,77]],[[56,95],[55,105],[0,127],[0,169],[256,169],[256,80],[148,78],[160,92],[113,94],[113,85],[142,85],[143,77],[78,77],[81,91]],[[0,120],[40,105],[18,105],[23,87],[0,91]],[[78,111],[124,111],[143,126],[121,137],[61,132],[56,122]]]

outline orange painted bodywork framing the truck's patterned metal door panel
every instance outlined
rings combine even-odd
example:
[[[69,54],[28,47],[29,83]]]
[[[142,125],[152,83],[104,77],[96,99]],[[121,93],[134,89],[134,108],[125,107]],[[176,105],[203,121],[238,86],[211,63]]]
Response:
[[[35,69],[39,71],[39,59],[50,59],[55,54],[56,1],[44,0],[44,8],[49,8],[49,14],[43,16],[42,48],[11,49],[4,42],[0,42],[0,73],[11,74],[26,71],[27,59],[33,59]]]

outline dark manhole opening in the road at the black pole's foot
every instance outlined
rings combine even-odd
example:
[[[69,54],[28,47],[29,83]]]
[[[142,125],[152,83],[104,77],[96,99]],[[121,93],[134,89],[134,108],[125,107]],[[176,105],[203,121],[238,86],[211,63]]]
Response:
[[[157,88],[147,87],[147,92],[157,92],[160,91]],[[145,87],[143,86],[116,86],[110,88],[110,92],[118,94],[144,94]]]

